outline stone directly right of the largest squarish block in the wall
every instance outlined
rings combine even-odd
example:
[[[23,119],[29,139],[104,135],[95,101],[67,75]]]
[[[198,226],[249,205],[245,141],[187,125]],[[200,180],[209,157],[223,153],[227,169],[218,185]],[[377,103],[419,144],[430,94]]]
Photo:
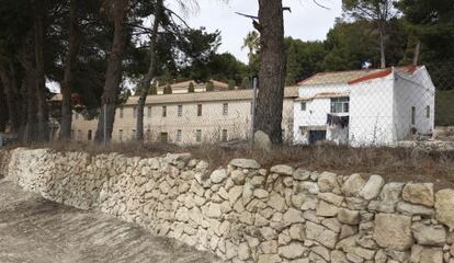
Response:
[[[425,226],[416,222],[411,226],[411,230],[418,244],[443,245],[446,242],[446,231],[443,226]]]

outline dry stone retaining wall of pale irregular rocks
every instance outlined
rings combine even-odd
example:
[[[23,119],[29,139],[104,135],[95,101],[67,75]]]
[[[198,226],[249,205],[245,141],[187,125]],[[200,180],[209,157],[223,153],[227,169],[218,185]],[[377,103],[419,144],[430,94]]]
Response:
[[[4,152],[3,152],[4,155]],[[4,170],[5,168],[2,168]],[[454,191],[235,159],[10,152],[9,178],[44,197],[136,222],[227,262],[454,263]]]

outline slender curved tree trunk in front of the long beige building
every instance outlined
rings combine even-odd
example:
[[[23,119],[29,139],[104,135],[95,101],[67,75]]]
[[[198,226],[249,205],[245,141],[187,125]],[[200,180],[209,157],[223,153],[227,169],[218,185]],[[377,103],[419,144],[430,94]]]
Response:
[[[140,81],[140,98],[137,105],[137,125],[136,130],[137,135],[136,138],[139,141],[144,140],[144,107],[145,102],[147,100],[148,90],[150,88],[150,82],[152,81],[152,78],[155,77],[155,68],[156,68],[156,46],[158,41],[158,30],[159,30],[159,23],[162,12],[162,0],[158,0],[156,2],[156,9],[155,9],[155,23],[152,25],[152,35],[150,39],[150,65],[148,67],[148,72],[145,75],[144,79]]]

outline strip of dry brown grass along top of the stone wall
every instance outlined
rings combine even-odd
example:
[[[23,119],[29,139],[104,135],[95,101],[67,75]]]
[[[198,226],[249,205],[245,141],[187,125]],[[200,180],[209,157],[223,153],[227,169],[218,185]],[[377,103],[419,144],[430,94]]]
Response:
[[[139,157],[191,152],[197,159],[207,160],[213,169],[226,165],[234,158],[251,158],[260,162],[263,168],[287,163],[314,171],[330,171],[344,175],[381,174],[387,181],[433,182],[438,188],[454,187],[454,152],[334,146],[283,146],[271,152],[263,152],[251,149],[247,145],[232,149],[213,145],[177,147],[136,142],[111,144],[106,147],[81,142],[55,142],[32,147],[49,147],[59,151],[86,151],[91,155],[121,152]]]

